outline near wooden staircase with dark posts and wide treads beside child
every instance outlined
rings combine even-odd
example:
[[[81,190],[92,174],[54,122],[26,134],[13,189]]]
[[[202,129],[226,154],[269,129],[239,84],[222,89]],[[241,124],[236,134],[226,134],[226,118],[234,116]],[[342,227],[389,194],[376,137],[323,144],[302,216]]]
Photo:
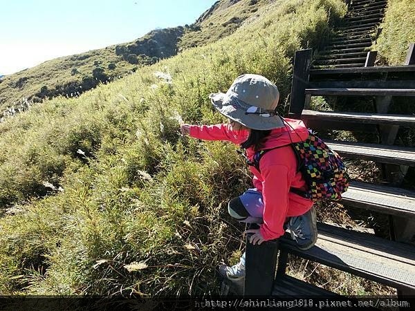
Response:
[[[363,8],[373,2],[367,0],[359,3]],[[385,1],[376,1],[378,2],[384,4]],[[295,55],[290,117],[301,118],[312,129],[323,127],[378,133],[381,141],[377,144],[322,138],[343,158],[373,161],[384,169],[386,184],[352,181],[340,204],[389,215],[391,239],[318,223],[317,243],[306,251],[297,249],[293,243],[284,239],[261,245],[251,245],[247,241],[244,294],[297,298],[338,297],[337,294],[287,276],[288,254],[293,254],[396,288],[398,299],[413,299],[415,191],[401,188],[400,182],[408,167],[415,167],[415,148],[399,147],[394,142],[400,127],[415,126],[415,115],[389,113],[389,106],[392,97],[409,97],[414,99],[412,111],[415,111],[414,44],[409,47],[404,66],[310,69],[311,56],[311,49],[297,51]],[[313,111],[309,106],[313,96],[374,97],[376,111]],[[277,247],[278,257],[275,251]],[[254,267],[259,262],[260,267]]]

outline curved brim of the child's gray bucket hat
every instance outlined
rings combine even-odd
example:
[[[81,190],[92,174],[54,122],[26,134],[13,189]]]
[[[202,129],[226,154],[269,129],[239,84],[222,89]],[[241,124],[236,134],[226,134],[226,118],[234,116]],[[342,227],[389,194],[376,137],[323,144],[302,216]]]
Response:
[[[246,111],[239,108],[232,97],[225,93],[212,93],[209,96],[214,108],[225,117],[239,122],[249,129],[270,130],[278,129],[285,126],[279,115],[263,117],[261,115],[246,114]]]

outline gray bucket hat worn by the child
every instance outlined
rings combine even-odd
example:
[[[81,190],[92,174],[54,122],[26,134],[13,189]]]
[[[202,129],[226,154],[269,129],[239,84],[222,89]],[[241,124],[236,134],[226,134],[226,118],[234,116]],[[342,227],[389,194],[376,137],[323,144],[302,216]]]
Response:
[[[261,75],[240,75],[226,93],[209,95],[222,115],[250,129],[269,130],[284,127],[275,111],[279,101],[277,86]]]

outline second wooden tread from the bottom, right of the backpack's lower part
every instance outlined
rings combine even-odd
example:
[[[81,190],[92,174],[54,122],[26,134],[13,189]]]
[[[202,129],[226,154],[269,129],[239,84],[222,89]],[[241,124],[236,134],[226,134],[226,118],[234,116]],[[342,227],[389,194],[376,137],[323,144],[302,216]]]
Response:
[[[415,193],[401,188],[351,182],[340,202],[383,214],[415,217]]]

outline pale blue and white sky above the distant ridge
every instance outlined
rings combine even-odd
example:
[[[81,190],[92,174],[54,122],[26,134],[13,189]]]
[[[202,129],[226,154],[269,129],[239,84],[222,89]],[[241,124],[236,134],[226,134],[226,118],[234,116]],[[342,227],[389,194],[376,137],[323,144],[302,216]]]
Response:
[[[0,75],[191,24],[216,0],[0,0]]]

